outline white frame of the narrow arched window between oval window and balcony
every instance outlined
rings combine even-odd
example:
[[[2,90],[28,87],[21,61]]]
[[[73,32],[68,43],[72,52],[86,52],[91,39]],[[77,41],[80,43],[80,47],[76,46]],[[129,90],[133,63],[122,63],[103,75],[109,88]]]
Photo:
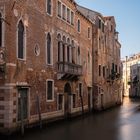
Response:
[[[50,34],[50,36],[51,36],[51,63],[50,63],[50,64],[48,64],[48,58],[47,58],[47,53],[48,53],[48,52],[47,52],[47,51],[48,51],[48,50],[47,50],[47,47],[48,47],[48,46],[47,46],[47,36],[48,36],[48,34]],[[51,33],[51,32],[47,32],[47,33],[46,33],[46,37],[45,37],[45,41],[46,41],[46,43],[45,43],[45,44],[46,44],[46,45],[45,45],[46,49],[45,49],[45,50],[46,50],[46,64],[47,64],[48,66],[52,66],[52,65],[53,65],[53,41],[52,41],[52,40],[53,40],[52,33]]]

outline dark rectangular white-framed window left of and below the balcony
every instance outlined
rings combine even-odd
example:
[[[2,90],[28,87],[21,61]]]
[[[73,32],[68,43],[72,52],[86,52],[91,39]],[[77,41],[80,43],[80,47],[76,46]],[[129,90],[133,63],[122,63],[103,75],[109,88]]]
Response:
[[[47,80],[46,83],[47,88],[47,100],[53,100],[54,96],[54,81],[53,80]]]

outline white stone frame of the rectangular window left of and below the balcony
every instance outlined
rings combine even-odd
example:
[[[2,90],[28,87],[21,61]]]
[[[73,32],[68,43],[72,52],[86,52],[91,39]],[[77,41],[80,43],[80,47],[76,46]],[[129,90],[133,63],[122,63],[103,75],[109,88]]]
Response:
[[[48,100],[48,82],[51,81],[52,82],[52,99]],[[47,102],[53,102],[54,101],[54,80],[53,79],[47,79],[46,80],[46,101]]]

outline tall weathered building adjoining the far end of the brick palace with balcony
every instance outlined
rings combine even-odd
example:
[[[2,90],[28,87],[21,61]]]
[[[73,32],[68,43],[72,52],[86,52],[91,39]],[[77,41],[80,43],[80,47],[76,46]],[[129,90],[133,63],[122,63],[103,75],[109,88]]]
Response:
[[[93,105],[102,110],[122,102],[121,44],[113,16],[104,17],[85,7],[78,9],[93,23]]]

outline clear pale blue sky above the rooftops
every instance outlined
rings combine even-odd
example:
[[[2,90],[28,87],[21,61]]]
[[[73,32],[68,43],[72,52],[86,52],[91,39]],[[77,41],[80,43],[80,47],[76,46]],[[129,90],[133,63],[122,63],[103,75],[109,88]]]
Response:
[[[75,0],[77,4],[100,12],[103,16],[114,16],[121,57],[140,52],[140,0]]]

